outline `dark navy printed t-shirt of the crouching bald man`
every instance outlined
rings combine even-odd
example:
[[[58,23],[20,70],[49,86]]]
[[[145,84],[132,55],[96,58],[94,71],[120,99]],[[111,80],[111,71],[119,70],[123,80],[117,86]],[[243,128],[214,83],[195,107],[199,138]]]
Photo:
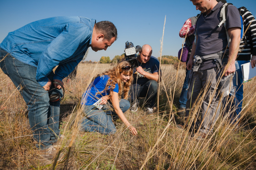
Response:
[[[138,61],[139,66],[143,68],[144,71],[153,74],[154,72],[159,72],[159,60],[156,57],[151,56],[149,61],[146,63],[140,63]],[[138,77],[137,77],[138,76]],[[136,68],[133,69],[133,85],[137,83],[137,85],[143,85],[147,81],[149,81],[145,76],[141,75],[136,71]],[[136,80],[137,79],[137,80]]]

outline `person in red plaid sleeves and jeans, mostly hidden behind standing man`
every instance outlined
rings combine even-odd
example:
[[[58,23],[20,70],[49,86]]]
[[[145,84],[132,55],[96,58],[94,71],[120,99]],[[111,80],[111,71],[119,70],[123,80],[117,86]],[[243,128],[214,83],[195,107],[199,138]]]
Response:
[[[191,49],[193,42],[195,40],[195,23],[196,23],[197,17],[190,17],[186,20],[183,27],[179,31],[179,36],[181,38],[185,38],[185,46],[188,48],[188,55],[186,58],[186,64],[188,62],[189,56],[191,54]],[[183,54],[182,54],[183,55]],[[179,56],[180,57],[180,56]],[[186,68],[186,76],[183,83],[182,91],[180,93],[179,97],[179,109],[177,112],[178,116],[184,116],[185,115],[185,108],[186,108],[186,102],[187,102],[187,88],[188,88],[188,76],[189,76],[190,70]]]

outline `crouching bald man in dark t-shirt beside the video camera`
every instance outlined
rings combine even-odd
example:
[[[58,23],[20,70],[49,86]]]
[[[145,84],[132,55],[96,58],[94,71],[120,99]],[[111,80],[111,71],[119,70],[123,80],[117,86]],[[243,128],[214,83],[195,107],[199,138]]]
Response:
[[[159,61],[151,56],[152,47],[148,44],[142,46],[137,60],[139,67],[133,70],[133,83],[130,88],[131,111],[136,112],[138,109],[138,97],[145,97],[145,111],[148,114],[153,113],[157,94],[157,84],[159,79]]]

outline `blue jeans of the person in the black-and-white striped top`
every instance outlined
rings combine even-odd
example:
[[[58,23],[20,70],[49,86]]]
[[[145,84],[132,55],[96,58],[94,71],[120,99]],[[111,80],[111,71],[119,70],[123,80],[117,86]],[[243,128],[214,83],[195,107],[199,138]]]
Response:
[[[236,112],[231,112],[230,119],[231,122],[234,120],[236,122],[237,119],[240,118],[240,112],[242,110],[242,104],[243,104],[243,72],[241,65],[245,63],[249,63],[250,60],[236,60],[235,66],[236,66],[236,74],[233,77],[233,89],[230,92],[229,96],[234,96],[234,102],[230,101],[228,103],[227,109],[235,109]],[[237,81],[237,85],[236,85]]]

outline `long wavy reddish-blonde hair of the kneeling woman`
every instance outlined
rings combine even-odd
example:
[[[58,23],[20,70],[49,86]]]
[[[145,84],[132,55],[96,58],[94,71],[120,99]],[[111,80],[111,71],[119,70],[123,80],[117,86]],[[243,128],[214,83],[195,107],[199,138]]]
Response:
[[[130,90],[130,85],[132,84],[132,81],[133,81],[133,75],[132,75],[133,68],[130,68],[129,70],[122,69],[125,66],[131,66],[131,64],[127,61],[121,61],[121,62],[117,63],[117,65],[113,69],[105,71],[102,74],[98,74],[96,77],[99,77],[102,75],[108,75],[110,77],[106,84],[105,89],[102,92],[98,92],[98,93],[106,92],[106,90],[108,90],[108,89],[110,89],[110,92],[113,92],[113,90],[115,88],[115,84],[117,83],[118,87],[119,87],[119,90],[118,90],[119,99],[121,99],[122,94],[123,94],[124,99],[127,99],[128,92]],[[128,80],[127,82],[123,82],[120,78],[120,74],[122,72],[124,74],[130,75],[130,80]]]

